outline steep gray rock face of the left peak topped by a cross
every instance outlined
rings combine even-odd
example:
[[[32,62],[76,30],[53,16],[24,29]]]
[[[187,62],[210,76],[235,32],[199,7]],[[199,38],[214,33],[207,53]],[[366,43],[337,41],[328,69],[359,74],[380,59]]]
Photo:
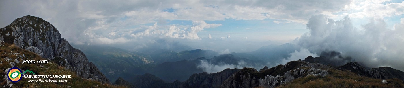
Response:
[[[0,29],[0,40],[57,61],[59,65],[76,71],[81,78],[109,83],[98,68],[88,62],[86,55],[72,47],[65,39],[61,39],[59,31],[42,18],[17,18],[10,25]]]

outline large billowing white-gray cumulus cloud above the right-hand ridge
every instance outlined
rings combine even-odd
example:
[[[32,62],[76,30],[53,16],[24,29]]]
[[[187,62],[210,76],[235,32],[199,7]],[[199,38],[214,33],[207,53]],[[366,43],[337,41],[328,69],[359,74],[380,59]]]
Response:
[[[355,28],[349,17],[333,20],[312,16],[307,23],[308,33],[294,42],[312,53],[338,51],[345,57],[365,63],[368,67],[391,66],[404,70],[403,25],[388,29],[383,19],[370,19],[361,28]]]

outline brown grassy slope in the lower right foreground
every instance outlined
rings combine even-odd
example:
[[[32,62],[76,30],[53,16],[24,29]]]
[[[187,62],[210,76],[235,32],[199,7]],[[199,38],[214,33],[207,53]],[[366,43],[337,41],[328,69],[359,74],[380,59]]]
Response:
[[[404,82],[397,78],[386,79],[387,84],[383,84],[381,79],[358,76],[348,70],[341,71],[335,69],[327,70],[328,76],[314,77],[307,76],[298,78],[290,83],[278,86],[278,88],[403,88]]]

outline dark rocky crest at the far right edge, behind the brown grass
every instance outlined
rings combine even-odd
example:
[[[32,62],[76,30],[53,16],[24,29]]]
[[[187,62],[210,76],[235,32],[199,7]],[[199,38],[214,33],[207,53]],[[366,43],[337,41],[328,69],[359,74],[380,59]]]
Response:
[[[404,72],[390,67],[379,67],[366,70],[366,68],[360,65],[359,63],[351,62],[339,66],[338,69],[350,70],[351,72],[357,73],[359,76],[367,76],[370,78],[379,78],[379,79],[398,78],[404,80]]]

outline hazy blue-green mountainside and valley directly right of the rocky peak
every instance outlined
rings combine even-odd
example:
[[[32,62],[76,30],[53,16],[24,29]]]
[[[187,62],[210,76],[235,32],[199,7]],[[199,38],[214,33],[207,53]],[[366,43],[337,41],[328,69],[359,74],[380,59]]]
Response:
[[[135,76],[139,72],[135,68],[153,66],[154,60],[145,53],[126,51],[116,47],[97,45],[74,45],[92,61],[99,70],[111,81],[115,81],[122,76]]]

